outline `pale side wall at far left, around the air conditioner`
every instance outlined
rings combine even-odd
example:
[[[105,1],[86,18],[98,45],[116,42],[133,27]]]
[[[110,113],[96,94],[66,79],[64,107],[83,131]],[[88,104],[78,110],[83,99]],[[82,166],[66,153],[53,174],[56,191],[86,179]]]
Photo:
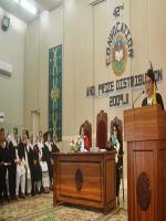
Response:
[[[0,8],[0,23],[3,15],[10,18],[8,31],[0,29],[0,60],[12,64],[11,77],[0,75],[0,112],[6,122],[1,126],[11,129],[23,125],[24,54],[27,24]]]

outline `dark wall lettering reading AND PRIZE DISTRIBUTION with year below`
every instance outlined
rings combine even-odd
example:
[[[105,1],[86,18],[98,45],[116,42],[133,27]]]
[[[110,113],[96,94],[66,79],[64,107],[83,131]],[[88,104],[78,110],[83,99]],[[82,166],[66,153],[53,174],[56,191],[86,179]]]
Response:
[[[163,70],[154,71],[155,81],[163,82]],[[86,97],[108,96],[110,108],[132,106],[132,91],[145,88],[145,73],[133,74],[86,87]]]

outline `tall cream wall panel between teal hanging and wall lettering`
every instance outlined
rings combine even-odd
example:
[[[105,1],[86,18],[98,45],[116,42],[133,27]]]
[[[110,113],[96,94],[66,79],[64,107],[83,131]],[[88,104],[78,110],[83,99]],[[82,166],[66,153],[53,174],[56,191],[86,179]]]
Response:
[[[92,8],[87,1],[64,1],[63,137],[93,122],[86,86],[93,84]]]

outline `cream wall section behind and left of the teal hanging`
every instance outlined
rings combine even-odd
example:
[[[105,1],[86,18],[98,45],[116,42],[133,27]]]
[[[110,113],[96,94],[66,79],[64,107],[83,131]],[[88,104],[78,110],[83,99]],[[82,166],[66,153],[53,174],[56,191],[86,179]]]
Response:
[[[44,11],[28,24],[24,125],[32,129],[32,112],[40,112],[39,128],[48,129],[49,49],[63,43],[63,7]]]

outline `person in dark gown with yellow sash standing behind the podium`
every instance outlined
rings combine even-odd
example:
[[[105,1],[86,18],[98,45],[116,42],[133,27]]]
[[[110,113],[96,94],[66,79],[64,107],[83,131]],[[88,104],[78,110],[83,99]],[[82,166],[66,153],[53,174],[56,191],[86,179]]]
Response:
[[[149,69],[145,74],[145,87],[147,97],[143,99],[142,106],[159,104],[162,109],[164,109],[162,95],[156,93],[155,74],[152,69]]]

